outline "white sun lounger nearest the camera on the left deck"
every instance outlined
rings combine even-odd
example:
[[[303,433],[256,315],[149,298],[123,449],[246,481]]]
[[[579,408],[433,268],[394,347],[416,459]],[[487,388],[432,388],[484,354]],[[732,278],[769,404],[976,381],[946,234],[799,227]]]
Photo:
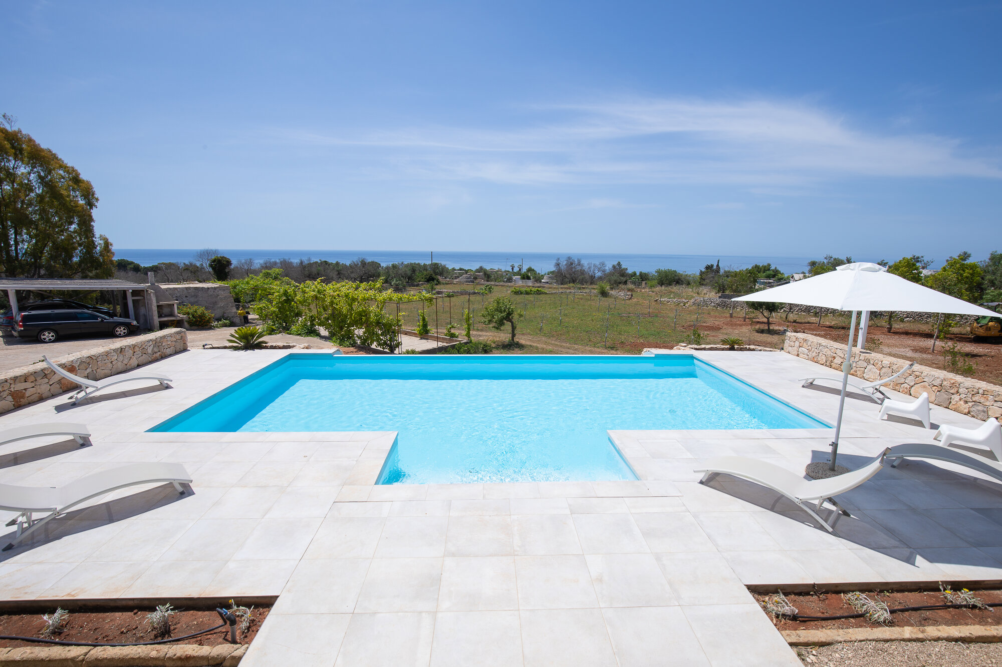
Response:
[[[178,493],[183,494],[181,484],[190,484],[191,477],[180,464],[143,463],[103,470],[81,477],[64,487],[16,487],[0,484],[0,510],[21,513],[7,522],[7,526],[17,526],[17,533],[3,551],[13,547],[50,519],[66,514],[92,498],[138,484],[163,482],[170,482]],[[47,514],[41,519],[32,519],[31,515],[36,512]]]

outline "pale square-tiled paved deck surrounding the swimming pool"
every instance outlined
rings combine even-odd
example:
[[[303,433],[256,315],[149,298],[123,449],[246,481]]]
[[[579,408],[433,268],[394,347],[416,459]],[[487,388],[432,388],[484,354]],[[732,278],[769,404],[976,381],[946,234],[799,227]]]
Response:
[[[167,375],[173,389],[0,416],[0,430],[61,420],[93,431],[89,447],[4,446],[3,484],[150,461],[193,478],[183,496],[158,486],[96,499],[0,553],[0,598],[279,596],[244,667],[717,667],[801,664],[745,585],[1002,581],[1002,486],[969,471],[885,468],[840,497],[853,518],[839,536],[766,489],[722,476],[701,486],[692,472],[735,454],[801,473],[827,458],[829,429],[610,432],[637,482],[393,486],[373,483],[394,433],[145,433],[286,354],[192,350],[133,372]],[[796,382],[817,365],[695,355],[834,423],[837,393]],[[877,413],[847,402],[842,463],[933,442]],[[977,424],[938,408],[933,422]]]

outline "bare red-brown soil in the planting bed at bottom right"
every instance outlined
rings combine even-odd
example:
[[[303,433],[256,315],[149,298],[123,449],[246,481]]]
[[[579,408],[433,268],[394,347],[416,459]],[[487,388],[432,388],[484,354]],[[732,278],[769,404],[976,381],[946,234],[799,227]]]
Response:
[[[916,607],[919,605],[943,605],[949,601],[937,591],[862,591],[871,600],[885,603],[892,610],[896,607]],[[1002,591],[974,591],[974,595],[985,603],[1002,603]],[[756,600],[763,602],[772,595],[755,594]],[[797,611],[807,616],[837,616],[855,614],[841,593],[791,593],[787,600]],[[794,621],[788,618],[773,623],[780,630],[827,630],[831,628],[877,628],[865,618],[847,618],[838,621]],[[989,609],[930,609],[924,611],[891,614],[893,626],[922,627],[929,625],[1002,625],[1002,607]]]

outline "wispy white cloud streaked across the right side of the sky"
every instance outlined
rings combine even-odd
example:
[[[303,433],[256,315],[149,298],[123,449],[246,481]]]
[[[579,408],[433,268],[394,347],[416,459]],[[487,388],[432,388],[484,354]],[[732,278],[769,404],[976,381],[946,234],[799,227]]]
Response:
[[[524,126],[281,136],[371,153],[396,177],[495,183],[754,188],[859,176],[1002,178],[997,149],[979,154],[957,137],[867,130],[798,101],[644,98],[531,110],[538,119]]]

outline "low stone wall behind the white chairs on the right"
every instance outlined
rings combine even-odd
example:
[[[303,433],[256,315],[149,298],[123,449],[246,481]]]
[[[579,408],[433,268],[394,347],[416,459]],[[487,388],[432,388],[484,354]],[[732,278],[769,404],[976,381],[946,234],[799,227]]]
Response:
[[[810,333],[788,332],[783,351],[840,373],[846,360],[846,346]],[[896,357],[861,353],[856,348],[853,348],[852,362],[850,373],[866,382],[890,378],[908,365],[907,361]],[[1002,387],[928,366],[916,365],[886,387],[916,398],[925,392],[931,403],[979,420],[1002,417]]]

